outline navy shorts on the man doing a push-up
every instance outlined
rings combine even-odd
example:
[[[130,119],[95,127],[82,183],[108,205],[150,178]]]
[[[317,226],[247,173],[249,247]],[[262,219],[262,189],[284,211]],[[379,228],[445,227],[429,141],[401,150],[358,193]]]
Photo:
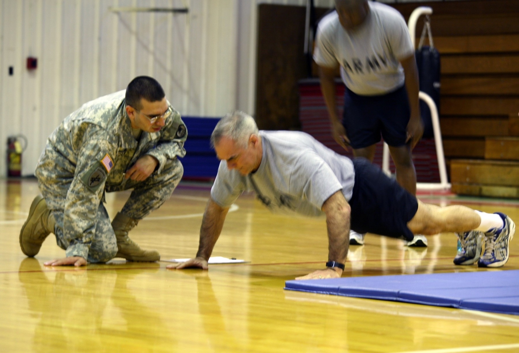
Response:
[[[418,210],[416,197],[365,158],[353,160],[355,183],[351,206],[351,229],[394,238],[413,239],[407,228]]]

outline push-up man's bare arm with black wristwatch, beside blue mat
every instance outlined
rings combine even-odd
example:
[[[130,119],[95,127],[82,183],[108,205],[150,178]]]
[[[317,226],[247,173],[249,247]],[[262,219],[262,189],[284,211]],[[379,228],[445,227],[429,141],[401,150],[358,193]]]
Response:
[[[328,230],[328,261],[345,263],[350,239],[351,207],[339,190],[324,202],[322,210],[326,214]],[[342,273],[339,267],[326,267],[325,270],[317,270],[296,279],[337,278]]]

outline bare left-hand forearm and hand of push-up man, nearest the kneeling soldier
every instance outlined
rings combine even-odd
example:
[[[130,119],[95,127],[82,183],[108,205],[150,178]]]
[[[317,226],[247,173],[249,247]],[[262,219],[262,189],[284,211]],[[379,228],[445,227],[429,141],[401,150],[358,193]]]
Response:
[[[200,242],[198,244],[196,258],[189,259],[186,262],[180,264],[175,263],[168,265],[166,267],[168,269],[199,267],[201,269],[207,270],[207,261],[211,257],[214,245],[216,244],[216,241],[222,232],[225,217],[227,216],[228,211],[229,207],[220,207],[220,205],[218,205],[212,199],[209,199],[209,202],[206,206],[206,211],[203,213],[202,225],[200,227]]]

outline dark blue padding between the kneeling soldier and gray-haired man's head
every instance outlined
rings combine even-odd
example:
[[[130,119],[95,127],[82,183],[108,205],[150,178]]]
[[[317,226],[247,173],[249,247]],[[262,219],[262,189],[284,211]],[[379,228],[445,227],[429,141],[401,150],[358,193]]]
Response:
[[[220,118],[182,117],[187,126],[184,144],[186,156],[181,159],[185,179],[214,179],[220,161],[210,146],[211,133]]]

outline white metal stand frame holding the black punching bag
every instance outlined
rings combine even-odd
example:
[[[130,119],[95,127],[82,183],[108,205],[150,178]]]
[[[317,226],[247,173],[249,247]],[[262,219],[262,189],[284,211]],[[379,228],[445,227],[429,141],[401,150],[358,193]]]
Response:
[[[407,27],[409,29],[409,34],[411,35],[411,42],[413,43],[413,48],[415,47],[415,31],[416,31],[416,22],[418,18],[422,15],[431,15],[432,8],[426,6],[417,7],[411,16],[409,16],[409,21],[407,22]],[[436,104],[432,98],[424,93],[419,92],[418,98],[422,101],[425,101],[431,110],[431,120],[432,120],[432,129],[434,131],[434,143],[436,146],[436,159],[438,160],[438,170],[440,172],[440,182],[418,182],[416,183],[416,188],[418,190],[447,190],[450,189],[450,183],[447,181],[447,172],[445,167],[445,156],[443,154],[443,143],[442,143],[442,132],[440,130],[440,119],[438,116],[438,108],[436,108]],[[389,170],[389,147],[386,143],[384,143],[384,151],[382,154],[382,170],[387,175],[391,174]]]

